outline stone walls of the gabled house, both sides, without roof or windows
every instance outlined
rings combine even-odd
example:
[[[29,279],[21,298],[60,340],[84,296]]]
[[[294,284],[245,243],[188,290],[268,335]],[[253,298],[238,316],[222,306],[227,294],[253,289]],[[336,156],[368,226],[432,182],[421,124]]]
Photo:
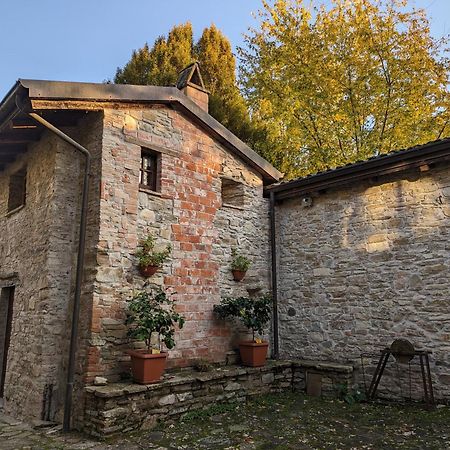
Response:
[[[158,245],[173,247],[168,263],[149,280],[152,287],[175,292],[187,319],[169,365],[224,361],[243,330],[216,321],[212,308],[223,295],[269,290],[268,205],[253,169],[167,106],[46,101],[34,106],[91,111],[65,130],[92,153],[76,424],[86,382],[97,375],[110,381],[129,375],[126,302],[146,282],[137,270],[139,241],[152,233]],[[161,152],[158,193],[139,190],[142,148]],[[9,176],[24,164],[26,205],[10,215]],[[0,176],[0,282],[16,287],[5,409],[18,417],[61,419],[82,172],[78,153],[45,133]],[[222,205],[223,177],[242,183],[241,207]],[[240,283],[229,270],[233,247],[253,261]]]

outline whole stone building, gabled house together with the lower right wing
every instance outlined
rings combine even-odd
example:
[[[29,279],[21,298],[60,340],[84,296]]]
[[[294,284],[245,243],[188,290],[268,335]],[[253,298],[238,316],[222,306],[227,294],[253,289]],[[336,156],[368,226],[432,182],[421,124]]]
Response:
[[[20,80],[0,104],[6,411],[61,420],[83,218],[85,159],[30,114],[91,154],[76,419],[96,376],[129,372],[125,305],[144,285],[135,253],[149,233],[172,246],[151,283],[176,291],[187,319],[172,366],[225,361],[239,332],[213,305],[274,286],[274,356],[347,363],[360,380],[362,353],[406,337],[433,351],[448,400],[450,140],[278,183],[207,107],[197,66],[177,87]],[[234,247],[253,261],[241,283]]]

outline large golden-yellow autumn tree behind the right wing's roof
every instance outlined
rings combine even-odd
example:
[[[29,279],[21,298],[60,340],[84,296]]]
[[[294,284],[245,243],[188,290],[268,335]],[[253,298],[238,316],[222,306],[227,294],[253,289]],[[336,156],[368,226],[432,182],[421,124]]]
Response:
[[[241,76],[266,156],[288,177],[448,134],[446,39],[399,0],[263,1]]]

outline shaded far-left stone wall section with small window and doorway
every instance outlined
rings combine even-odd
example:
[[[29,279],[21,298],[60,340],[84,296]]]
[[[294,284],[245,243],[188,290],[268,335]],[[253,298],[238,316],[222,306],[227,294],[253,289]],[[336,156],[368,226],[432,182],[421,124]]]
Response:
[[[5,409],[21,417],[40,416],[45,385],[54,381],[45,358],[54,349],[60,332],[59,327],[47,328],[48,312],[53,310],[47,259],[56,147],[56,139],[46,135],[0,175],[1,273],[5,278],[14,275],[16,284]],[[26,204],[9,214],[9,176],[24,164],[27,165]]]

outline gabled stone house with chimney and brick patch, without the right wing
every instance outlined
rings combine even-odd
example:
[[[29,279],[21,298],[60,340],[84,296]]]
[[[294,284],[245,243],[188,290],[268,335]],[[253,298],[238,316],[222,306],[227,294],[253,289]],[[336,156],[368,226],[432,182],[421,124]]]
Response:
[[[214,320],[213,305],[270,290],[263,187],[281,174],[208,114],[197,71],[178,88],[20,80],[1,103],[7,412],[61,418],[84,171],[84,158],[27,110],[92,155],[76,393],[95,376],[113,382],[129,371],[125,305],[144,284],[135,253],[149,233],[172,246],[150,281],[176,291],[186,317],[171,365],[224,361],[237,334]],[[241,283],[232,280],[232,248],[253,261]]]

